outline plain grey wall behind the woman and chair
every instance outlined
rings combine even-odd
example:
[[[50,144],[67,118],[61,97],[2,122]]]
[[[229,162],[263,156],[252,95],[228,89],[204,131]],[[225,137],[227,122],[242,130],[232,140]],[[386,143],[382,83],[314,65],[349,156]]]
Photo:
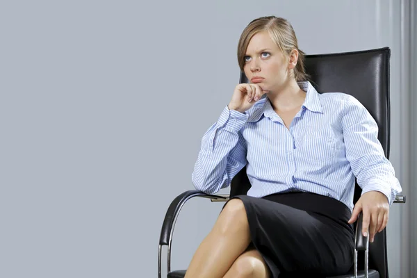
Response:
[[[2,1],[0,277],[156,277],[167,206],[193,189],[240,32],[263,15],[289,19],[307,54],[391,47],[391,162],[417,197],[413,0]],[[183,207],[172,269],[221,207]],[[391,277],[417,275],[416,211],[391,207]]]

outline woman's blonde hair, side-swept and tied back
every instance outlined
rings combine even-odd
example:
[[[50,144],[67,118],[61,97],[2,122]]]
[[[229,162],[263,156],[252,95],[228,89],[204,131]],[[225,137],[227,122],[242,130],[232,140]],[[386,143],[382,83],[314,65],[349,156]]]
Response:
[[[261,31],[268,31],[271,39],[286,57],[289,57],[293,49],[297,49],[298,60],[294,68],[295,81],[300,82],[309,79],[309,75],[306,74],[304,69],[305,54],[298,48],[297,37],[295,36],[293,26],[291,26],[288,20],[275,16],[254,19],[243,30],[238,43],[238,63],[240,70],[243,72],[247,45],[252,37]]]

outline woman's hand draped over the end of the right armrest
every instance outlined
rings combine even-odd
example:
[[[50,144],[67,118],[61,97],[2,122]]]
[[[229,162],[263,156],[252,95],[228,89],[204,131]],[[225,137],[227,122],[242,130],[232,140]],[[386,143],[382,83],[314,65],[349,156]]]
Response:
[[[370,242],[373,243],[375,234],[382,231],[389,217],[389,202],[386,196],[379,191],[369,191],[364,193],[354,205],[352,217],[348,221],[352,224],[363,211],[363,236],[370,236]]]

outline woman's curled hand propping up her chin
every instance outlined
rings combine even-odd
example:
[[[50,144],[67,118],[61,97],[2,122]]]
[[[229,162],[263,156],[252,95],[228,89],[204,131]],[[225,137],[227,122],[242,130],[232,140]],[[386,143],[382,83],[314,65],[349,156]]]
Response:
[[[261,99],[261,97],[267,92],[268,91],[266,90],[262,90],[258,84],[238,84],[227,107],[229,107],[229,110],[236,110],[240,113],[245,113],[245,111],[254,106],[256,101],[259,101],[259,99]]]

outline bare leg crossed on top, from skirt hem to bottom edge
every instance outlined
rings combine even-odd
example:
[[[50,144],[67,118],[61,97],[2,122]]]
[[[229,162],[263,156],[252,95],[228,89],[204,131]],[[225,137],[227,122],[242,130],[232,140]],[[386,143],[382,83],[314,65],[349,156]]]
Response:
[[[222,278],[250,243],[245,206],[231,199],[195,252],[185,278]]]

